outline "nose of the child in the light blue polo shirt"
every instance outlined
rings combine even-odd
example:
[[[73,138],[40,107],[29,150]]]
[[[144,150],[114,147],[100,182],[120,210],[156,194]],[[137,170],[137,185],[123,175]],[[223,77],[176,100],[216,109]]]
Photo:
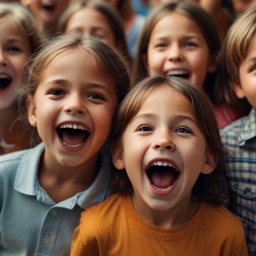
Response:
[[[78,93],[74,95],[70,95],[67,97],[65,105],[64,105],[64,111],[67,113],[73,113],[73,114],[85,114],[86,107],[84,104],[84,98],[80,96]]]

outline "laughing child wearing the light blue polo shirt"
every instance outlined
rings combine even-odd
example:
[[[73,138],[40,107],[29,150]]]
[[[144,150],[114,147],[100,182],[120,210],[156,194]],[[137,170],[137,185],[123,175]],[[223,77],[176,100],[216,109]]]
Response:
[[[70,254],[80,213],[110,195],[101,148],[128,88],[124,62],[98,39],[60,36],[35,56],[24,94],[43,143],[0,157],[1,255]]]

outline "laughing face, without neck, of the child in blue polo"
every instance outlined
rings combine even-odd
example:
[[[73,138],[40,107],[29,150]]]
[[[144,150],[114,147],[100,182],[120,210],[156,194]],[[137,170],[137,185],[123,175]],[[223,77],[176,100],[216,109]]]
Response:
[[[79,166],[108,139],[118,104],[115,84],[102,76],[92,54],[70,49],[44,70],[28,116],[45,144],[45,160]]]

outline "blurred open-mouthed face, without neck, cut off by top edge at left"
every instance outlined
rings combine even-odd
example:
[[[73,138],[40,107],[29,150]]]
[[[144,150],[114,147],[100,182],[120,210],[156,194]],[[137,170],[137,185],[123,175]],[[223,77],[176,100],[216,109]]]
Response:
[[[56,23],[68,0],[20,0],[28,6],[39,23]],[[40,24],[41,25],[41,24]]]

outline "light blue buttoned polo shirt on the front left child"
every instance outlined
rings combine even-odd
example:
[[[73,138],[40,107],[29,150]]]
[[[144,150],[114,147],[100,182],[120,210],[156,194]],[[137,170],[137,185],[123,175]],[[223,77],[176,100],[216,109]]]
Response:
[[[0,156],[0,255],[69,256],[80,213],[110,196],[109,162],[84,192],[55,203],[40,187],[37,171],[44,144]]]

